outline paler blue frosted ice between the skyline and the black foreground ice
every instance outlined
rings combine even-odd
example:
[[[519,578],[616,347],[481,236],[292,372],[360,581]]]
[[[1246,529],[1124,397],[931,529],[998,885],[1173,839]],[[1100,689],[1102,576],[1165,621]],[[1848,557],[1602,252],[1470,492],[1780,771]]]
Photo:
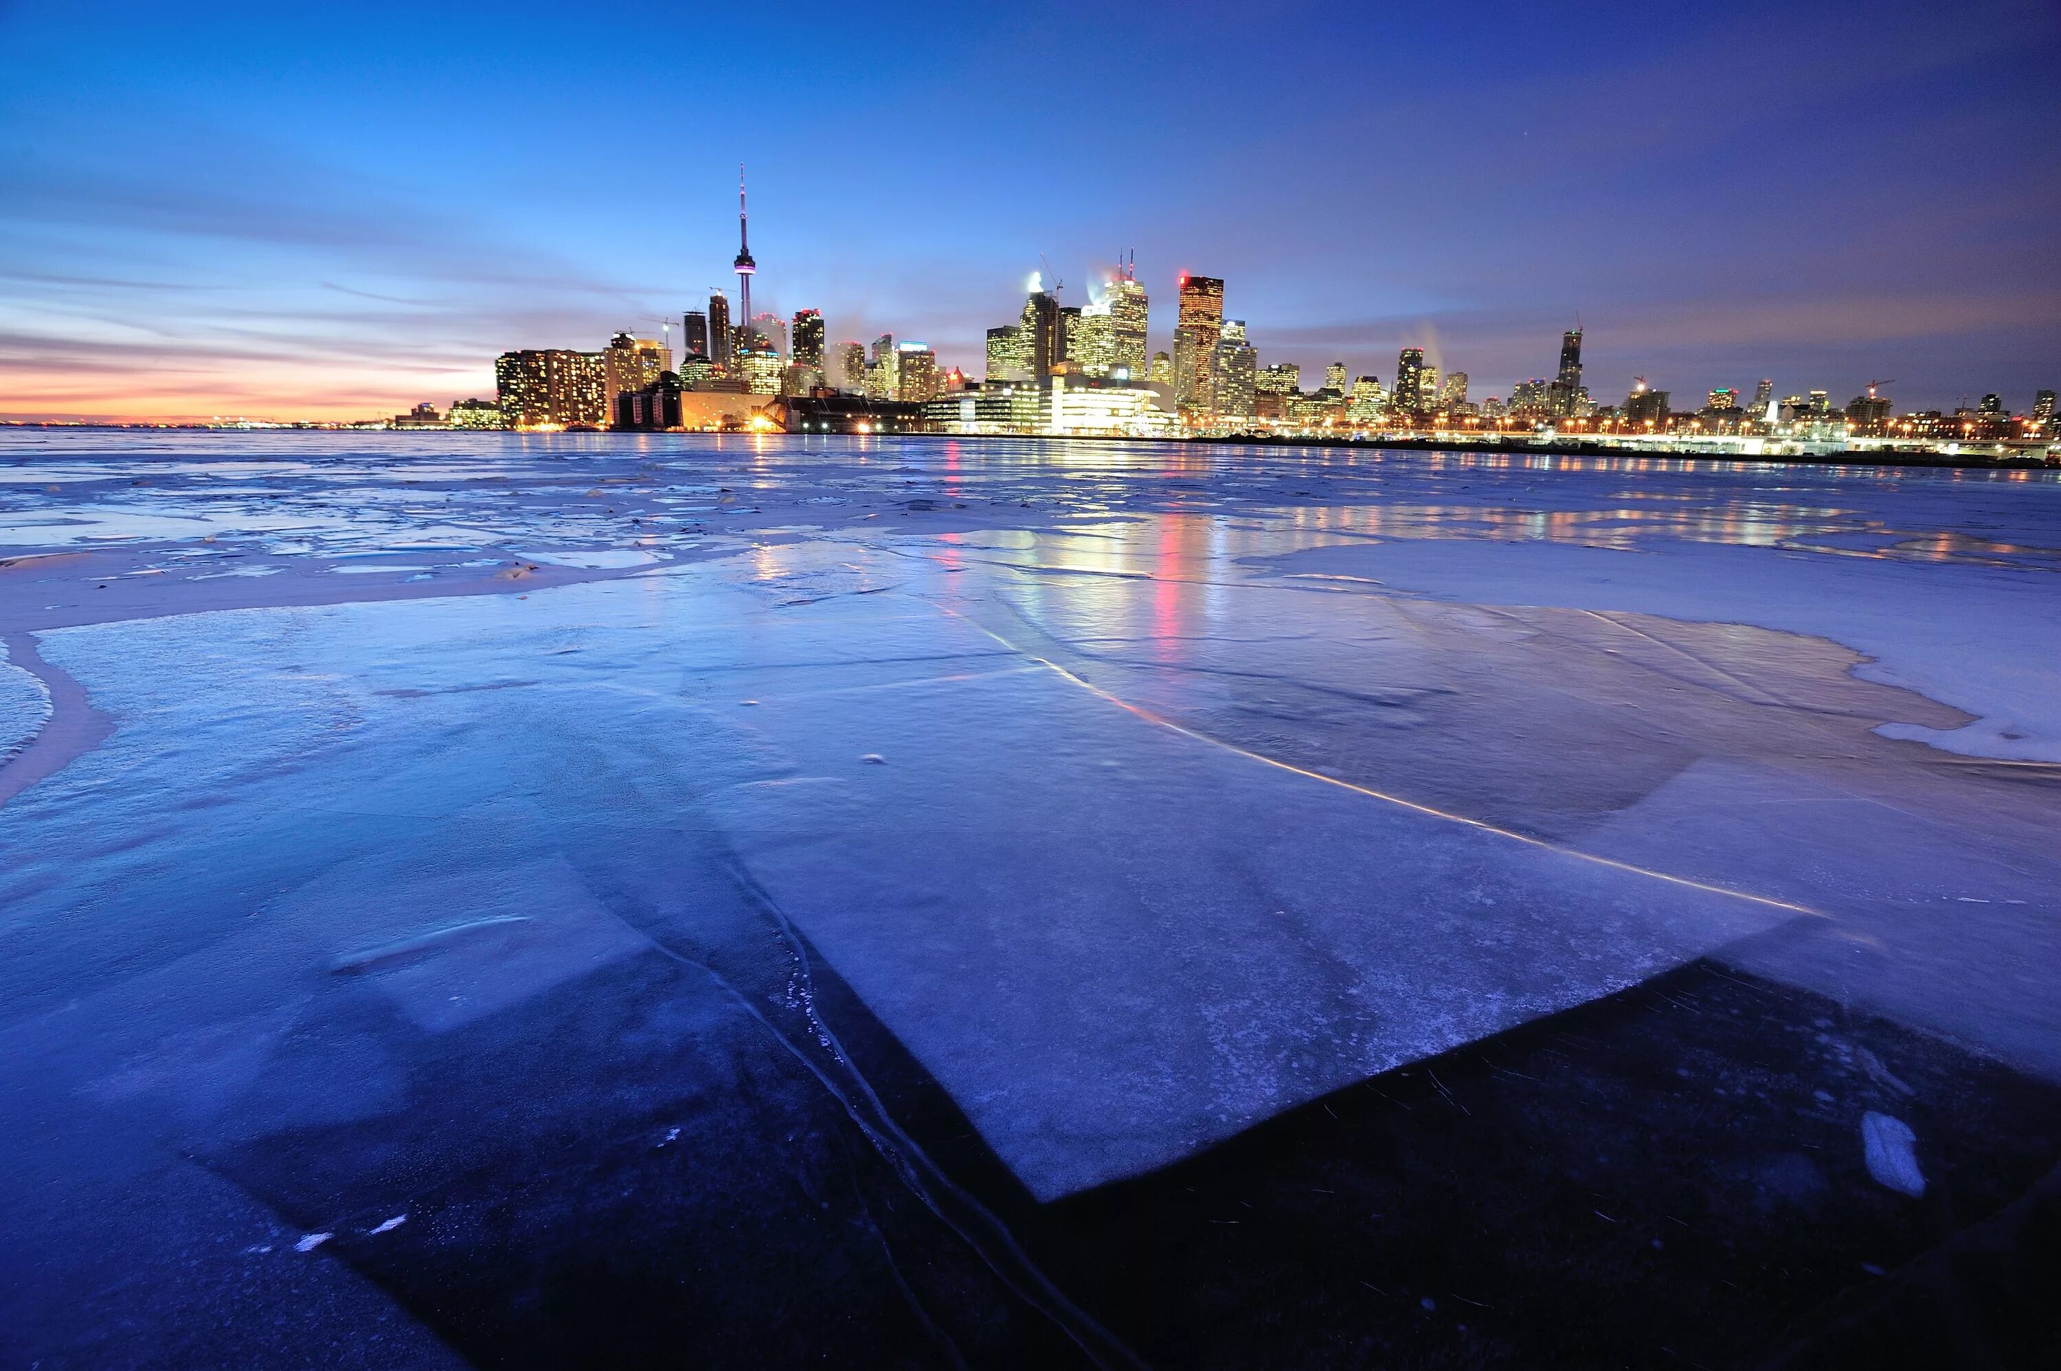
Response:
[[[165,1157],[398,1136],[437,1043],[587,1002],[641,1025],[622,1070],[761,1033],[808,988],[740,909],[798,930],[1041,1200],[1692,957],[2061,1078],[2057,495],[0,435],[31,538],[0,633],[113,722],[45,724],[0,670],[0,755],[82,740],[0,806],[0,1218],[62,1249],[66,1214],[148,1192],[251,1231]],[[668,996],[701,944],[746,990],[695,1018]],[[521,1058],[497,1097],[577,1084],[608,1117],[606,1062]]]

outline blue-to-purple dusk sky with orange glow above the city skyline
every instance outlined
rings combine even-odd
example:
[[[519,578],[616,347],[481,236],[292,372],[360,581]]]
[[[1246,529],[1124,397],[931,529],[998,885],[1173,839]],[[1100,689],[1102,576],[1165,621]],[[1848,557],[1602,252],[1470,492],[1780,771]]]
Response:
[[[198,14],[183,12],[200,10]],[[624,16],[631,23],[624,23]],[[365,414],[756,303],[979,363],[1043,254],[1261,361],[2061,383],[2061,6],[0,0],[0,414]]]

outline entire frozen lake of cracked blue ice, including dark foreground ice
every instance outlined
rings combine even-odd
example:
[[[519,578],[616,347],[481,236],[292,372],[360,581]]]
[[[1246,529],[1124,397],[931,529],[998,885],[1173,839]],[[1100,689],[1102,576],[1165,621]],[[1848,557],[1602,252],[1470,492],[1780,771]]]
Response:
[[[1754,1355],[1944,1237],[1863,1115],[2061,1150],[2057,571],[2055,472],[0,431],[0,1355],[1638,1361],[1480,1266],[1562,1190]],[[1414,1155],[1437,1289],[1259,1194]],[[1210,1183],[1323,1229],[1191,1344],[1096,1251]]]

